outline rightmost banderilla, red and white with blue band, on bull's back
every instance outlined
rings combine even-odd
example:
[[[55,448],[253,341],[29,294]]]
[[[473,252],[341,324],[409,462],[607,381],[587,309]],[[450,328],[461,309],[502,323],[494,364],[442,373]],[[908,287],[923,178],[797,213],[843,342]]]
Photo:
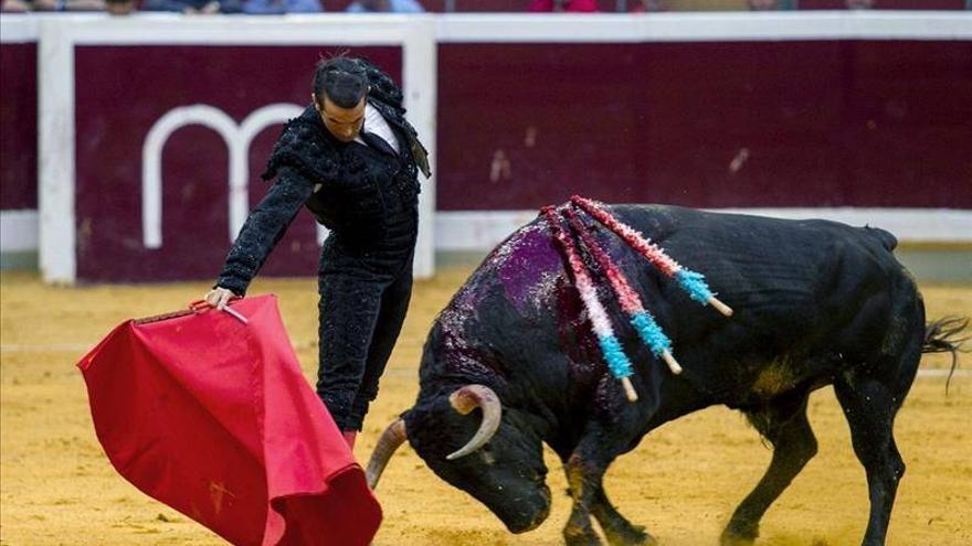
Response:
[[[696,271],[687,269],[672,259],[665,250],[655,245],[644,235],[633,229],[627,224],[615,218],[611,213],[604,210],[600,204],[574,195],[570,202],[585,213],[590,214],[594,220],[604,224],[609,229],[616,233],[635,250],[640,251],[648,259],[659,271],[678,281],[678,285],[688,292],[689,297],[704,306],[712,306],[717,311],[726,317],[732,315],[732,309],[719,301],[712,290],[706,283],[705,277]]]

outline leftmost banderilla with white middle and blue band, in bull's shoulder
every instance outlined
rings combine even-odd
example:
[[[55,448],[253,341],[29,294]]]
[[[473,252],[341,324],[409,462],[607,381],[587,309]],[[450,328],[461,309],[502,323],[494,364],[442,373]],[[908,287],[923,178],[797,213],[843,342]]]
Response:
[[[540,213],[543,214],[547,223],[550,224],[553,237],[567,256],[567,261],[573,274],[574,286],[577,286],[578,292],[581,295],[581,301],[583,301],[588,315],[591,318],[591,324],[594,328],[594,334],[598,336],[598,343],[601,345],[601,352],[604,353],[604,360],[608,361],[608,368],[614,377],[621,379],[628,402],[636,402],[637,393],[634,390],[630,378],[634,373],[631,361],[624,354],[617,336],[614,335],[614,329],[611,328],[611,319],[608,318],[608,311],[604,310],[604,306],[598,299],[598,292],[594,283],[591,281],[591,276],[588,275],[587,266],[581,259],[580,254],[578,254],[573,240],[570,239],[560,225],[560,218],[557,216],[554,208],[552,206],[545,206],[540,210]]]

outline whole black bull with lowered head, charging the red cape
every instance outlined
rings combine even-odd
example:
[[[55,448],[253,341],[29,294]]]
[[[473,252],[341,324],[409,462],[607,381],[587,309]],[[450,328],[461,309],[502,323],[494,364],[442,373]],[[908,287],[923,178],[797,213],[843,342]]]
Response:
[[[811,392],[834,385],[867,473],[864,544],[884,544],[905,464],[895,414],[922,352],[952,351],[958,320],[926,328],[915,281],[889,233],[825,221],[783,221],[669,206],[611,211],[686,267],[706,275],[731,318],[704,308],[606,228],[593,227],[673,339],[673,375],[625,323],[609,285],[602,301],[635,365],[628,403],[609,373],[566,261],[543,220],[518,229],[473,274],[435,321],[415,406],[376,448],[369,480],[408,439],[429,467],[493,511],[514,533],[547,517],[541,442],[564,463],[570,545],[651,544],[608,500],[611,462],[662,424],[723,404],[773,446],[765,475],[732,514],[723,544],[748,544],[770,504],[816,453]],[[951,330],[951,332],[945,332]],[[474,409],[479,410],[474,411]],[[469,439],[472,438],[472,440]],[[459,449],[462,447],[462,449]]]

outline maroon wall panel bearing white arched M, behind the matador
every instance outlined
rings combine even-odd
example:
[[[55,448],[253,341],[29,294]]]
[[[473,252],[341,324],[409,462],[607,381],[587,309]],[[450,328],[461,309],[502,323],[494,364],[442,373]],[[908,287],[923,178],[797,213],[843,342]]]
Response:
[[[320,46],[78,46],[76,74],[77,278],[96,281],[215,278],[229,249],[228,149],[200,126],[183,127],[162,153],[162,247],[142,246],[141,147],[166,113],[196,104],[237,124],[273,103],[306,105]],[[351,49],[400,81],[400,47]],[[250,199],[281,126],[250,148]],[[264,267],[313,275],[318,250],[306,212]]]

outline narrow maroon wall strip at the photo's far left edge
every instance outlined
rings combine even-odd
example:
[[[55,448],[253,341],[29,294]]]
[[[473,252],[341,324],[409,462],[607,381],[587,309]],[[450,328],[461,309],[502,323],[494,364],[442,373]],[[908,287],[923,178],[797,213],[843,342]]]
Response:
[[[38,207],[38,46],[0,45],[0,210]]]

